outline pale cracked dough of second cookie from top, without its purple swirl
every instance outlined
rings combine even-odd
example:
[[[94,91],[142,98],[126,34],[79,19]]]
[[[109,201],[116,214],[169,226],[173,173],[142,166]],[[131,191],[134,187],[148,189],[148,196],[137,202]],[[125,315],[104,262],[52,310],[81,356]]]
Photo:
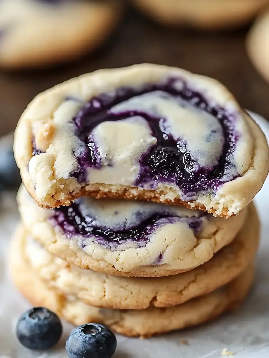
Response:
[[[94,236],[72,235],[73,230],[64,233],[51,220],[56,209],[38,207],[23,187],[17,198],[23,224],[46,250],[81,269],[120,276],[168,276],[203,264],[234,239],[248,210],[229,220],[207,214],[199,233],[183,223],[171,223],[156,229],[149,240],[141,244],[126,240],[109,246]],[[127,210],[128,202],[126,205]]]

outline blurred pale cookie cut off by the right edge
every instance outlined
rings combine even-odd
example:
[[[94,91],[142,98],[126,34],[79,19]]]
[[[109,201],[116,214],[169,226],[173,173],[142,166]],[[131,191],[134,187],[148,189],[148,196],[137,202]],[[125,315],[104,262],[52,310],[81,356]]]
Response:
[[[269,12],[261,15],[250,29],[246,48],[256,69],[269,81]]]

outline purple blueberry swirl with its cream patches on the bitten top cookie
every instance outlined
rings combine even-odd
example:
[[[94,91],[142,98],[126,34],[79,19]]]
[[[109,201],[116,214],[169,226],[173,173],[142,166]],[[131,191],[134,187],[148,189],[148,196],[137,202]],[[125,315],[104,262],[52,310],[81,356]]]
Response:
[[[118,88],[114,96],[103,93],[73,118],[76,135],[85,143],[73,175],[84,181],[88,168],[94,168],[111,178],[113,168],[120,170],[117,160],[127,152],[122,161],[129,155],[133,167],[139,167],[128,178],[130,185],[155,188],[158,183],[173,183],[184,194],[216,189],[240,175],[233,157],[240,137],[234,121],[235,115],[210,105],[180,78],[139,89]],[[135,125],[140,135],[130,133]],[[109,135],[115,137],[109,141],[105,138]]]

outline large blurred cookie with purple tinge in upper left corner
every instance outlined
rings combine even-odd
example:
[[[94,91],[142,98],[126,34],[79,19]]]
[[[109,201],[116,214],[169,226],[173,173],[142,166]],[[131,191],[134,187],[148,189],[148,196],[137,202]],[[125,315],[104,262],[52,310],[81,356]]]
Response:
[[[118,23],[117,0],[0,1],[0,66],[41,67],[94,50]]]

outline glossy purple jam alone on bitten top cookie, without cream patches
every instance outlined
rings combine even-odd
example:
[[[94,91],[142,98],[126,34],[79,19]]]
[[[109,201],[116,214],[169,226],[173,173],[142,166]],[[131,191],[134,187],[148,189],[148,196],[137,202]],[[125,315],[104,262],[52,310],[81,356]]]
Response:
[[[180,83],[180,86],[177,85]],[[165,118],[153,117],[143,111],[115,112],[111,108],[121,102],[127,101],[135,96],[154,91],[163,91],[191,103],[194,108],[199,108],[213,115],[220,123],[224,144],[218,163],[211,168],[199,165],[191,153],[186,149],[187,143],[184,138],[174,139],[172,134],[162,130]],[[87,102],[78,114],[73,118],[76,126],[76,136],[85,143],[85,151],[77,157],[78,170],[70,173],[79,182],[85,183],[87,169],[101,169],[101,157],[98,146],[94,141],[93,129],[105,121],[126,120],[134,116],[140,116],[148,123],[151,134],[156,137],[156,144],[152,145],[147,153],[141,155],[139,160],[140,171],[134,185],[144,187],[146,184],[154,188],[158,183],[173,183],[177,185],[184,194],[191,197],[194,193],[216,190],[222,183],[233,180],[238,176],[234,170],[233,175],[227,178],[227,171],[234,168],[232,163],[238,134],[234,130],[235,116],[228,113],[224,108],[212,107],[204,96],[188,88],[184,81],[179,78],[170,78],[162,84],[145,84],[143,88],[118,88],[115,95],[101,94]],[[39,154],[35,146],[33,155]],[[113,164],[111,164],[113,165]],[[236,168],[235,168],[236,169]]]

